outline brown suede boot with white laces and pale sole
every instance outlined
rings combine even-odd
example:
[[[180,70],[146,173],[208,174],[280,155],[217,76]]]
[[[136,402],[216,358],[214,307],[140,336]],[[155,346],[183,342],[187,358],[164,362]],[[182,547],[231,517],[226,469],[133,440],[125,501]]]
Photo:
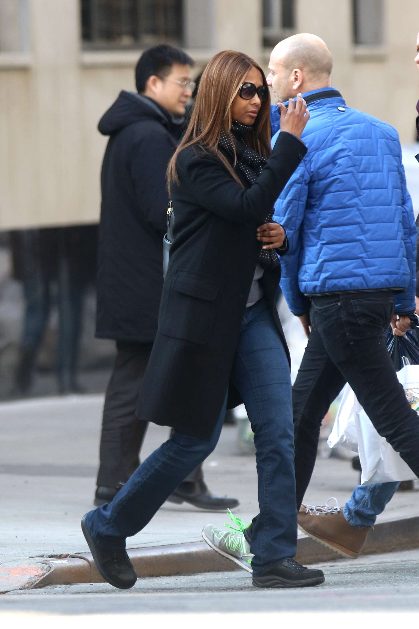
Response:
[[[356,559],[373,527],[351,526],[339,507],[311,507],[302,504],[298,513],[298,528],[308,537],[332,548],[342,557]]]

